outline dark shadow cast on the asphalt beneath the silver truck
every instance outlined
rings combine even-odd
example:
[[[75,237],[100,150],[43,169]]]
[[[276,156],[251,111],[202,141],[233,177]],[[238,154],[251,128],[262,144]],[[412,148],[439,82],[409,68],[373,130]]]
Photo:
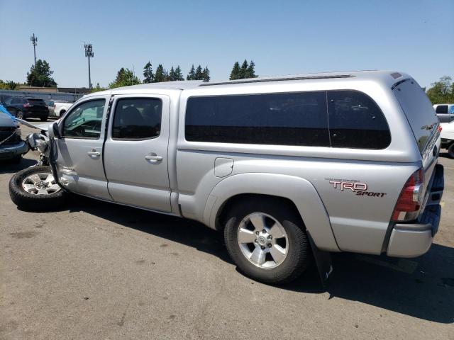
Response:
[[[77,196],[70,211],[84,211],[157,237],[192,246],[231,263],[223,235],[199,222]],[[454,248],[433,244],[417,259],[333,254],[333,277],[323,288],[312,266],[301,278],[276,289],[330,293],[431,322],[454,322]]]

